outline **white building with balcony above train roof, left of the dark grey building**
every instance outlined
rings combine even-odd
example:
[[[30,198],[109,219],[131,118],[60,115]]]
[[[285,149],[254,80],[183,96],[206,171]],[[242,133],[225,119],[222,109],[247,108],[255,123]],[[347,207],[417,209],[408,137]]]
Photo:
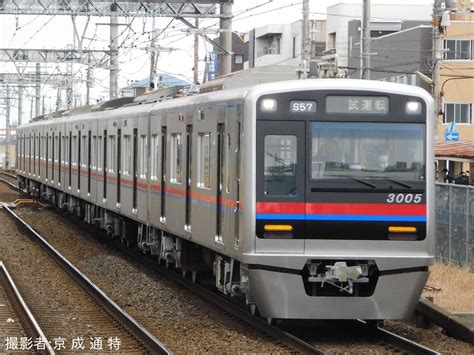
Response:
[[[301,22],[258,27],[245,35],[249,60],[244,69],[267,65],[298,67],[301,62]],[[311,56],[319,58],[325,49],[326,21],[310,21]]]

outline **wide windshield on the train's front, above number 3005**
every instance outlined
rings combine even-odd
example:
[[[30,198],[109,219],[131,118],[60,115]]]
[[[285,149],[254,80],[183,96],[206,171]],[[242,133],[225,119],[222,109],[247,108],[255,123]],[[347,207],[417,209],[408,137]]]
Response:
[[[425,126],[313,122],[311,177],[423,180]]]

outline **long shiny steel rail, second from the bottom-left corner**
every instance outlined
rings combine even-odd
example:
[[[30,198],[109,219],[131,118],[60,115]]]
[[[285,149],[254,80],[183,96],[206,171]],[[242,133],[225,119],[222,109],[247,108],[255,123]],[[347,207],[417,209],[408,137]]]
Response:
[[[6,204],[3,203],[3,209],[15,223],[25,230],[30,238],[37,242],[44,251],[46,251],[55,262],[57,262],[91,297],[93,297],[105,310],[109,312],[119,323],[125,326],[133,335],[153,354],[172,354],[158,339],[155,338],[140,323],[120,308],[109,296],[107,296],[99,287],[97,287],[87,276],[78,268],[54,249],[40,234],[38,234],[28,223],[23,221]]]

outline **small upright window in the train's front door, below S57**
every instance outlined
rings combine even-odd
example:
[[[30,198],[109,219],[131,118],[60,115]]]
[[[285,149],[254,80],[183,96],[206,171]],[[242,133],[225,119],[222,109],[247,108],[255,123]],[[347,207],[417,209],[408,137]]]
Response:
[[[287,197],[295,197],[297,195],[296,157],[296,136],[265,136],[265,195]]]

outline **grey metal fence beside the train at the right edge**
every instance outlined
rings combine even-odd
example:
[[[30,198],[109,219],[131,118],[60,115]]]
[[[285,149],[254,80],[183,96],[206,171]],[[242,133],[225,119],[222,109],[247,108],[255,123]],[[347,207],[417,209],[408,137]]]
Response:
[[[436,184],[436,257],[474,269],[474,186]]]

